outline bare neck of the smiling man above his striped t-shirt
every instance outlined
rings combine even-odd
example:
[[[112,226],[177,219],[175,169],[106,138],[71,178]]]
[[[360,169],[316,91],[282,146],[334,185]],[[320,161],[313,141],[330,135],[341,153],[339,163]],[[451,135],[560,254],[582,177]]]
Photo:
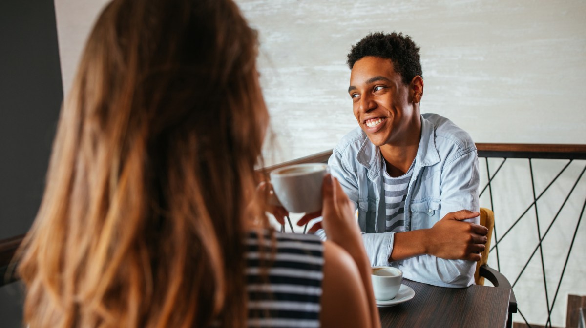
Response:
[[[388,143],[380,147],[380,152],[387,164],[387,173],[391,177],[400,177],[407,173],[417,156],[420,140],[421,120],[396,143]]]

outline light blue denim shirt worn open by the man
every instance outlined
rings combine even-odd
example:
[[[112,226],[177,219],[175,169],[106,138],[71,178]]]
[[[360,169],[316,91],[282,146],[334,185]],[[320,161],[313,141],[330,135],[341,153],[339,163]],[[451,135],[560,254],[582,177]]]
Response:
[[[395,233],[384,232],[382,164],[379,147],[370,143],[360,127],[343,137],[328,161],[332,175],[357,205],[371,264],[398,267],[403,277],[436,286],[474,284],[473,261],[430,255],[389,261]],[[431,228],[449,212],[478,211],[478,185],[478,153],[469,134],[440,115],[421,115],[421,140],[405,199],[405,230]],[[479,223],[478,217],[468,221]]]

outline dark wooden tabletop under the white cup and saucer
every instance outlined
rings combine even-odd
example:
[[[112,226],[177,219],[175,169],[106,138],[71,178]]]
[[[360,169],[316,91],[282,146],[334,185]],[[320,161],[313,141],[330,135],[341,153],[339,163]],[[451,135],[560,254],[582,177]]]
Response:
[[[383,328],[503,328],[510,289],[472,285],[443,288],[403,279],[415,291],[410,301],[379,308]]]

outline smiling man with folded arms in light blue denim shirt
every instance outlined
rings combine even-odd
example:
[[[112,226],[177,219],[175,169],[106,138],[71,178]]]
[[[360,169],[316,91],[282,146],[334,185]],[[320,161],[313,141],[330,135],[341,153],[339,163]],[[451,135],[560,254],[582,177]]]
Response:
[[[359,127],[328,164],[356,203],[372,265],[432,285],[473,284],[488,232],[478,225],[475,144],[450,120],[420,113],[423,74],[409,36],[369,34],[347,63]]]

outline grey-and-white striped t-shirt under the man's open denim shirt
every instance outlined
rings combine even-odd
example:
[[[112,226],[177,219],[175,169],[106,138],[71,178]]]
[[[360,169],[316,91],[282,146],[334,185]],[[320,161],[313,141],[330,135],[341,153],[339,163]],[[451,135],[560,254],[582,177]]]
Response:
[[[401,177],[393,178],[387,173],[386,164],[383,160],[383,186],[384,186],[384,204],[386,209],[386,232],[404,232],[405,221],[403,213],[405,212],[405,199],[407,198],[407,187],[413,174],[413,164],[406,174]]]

